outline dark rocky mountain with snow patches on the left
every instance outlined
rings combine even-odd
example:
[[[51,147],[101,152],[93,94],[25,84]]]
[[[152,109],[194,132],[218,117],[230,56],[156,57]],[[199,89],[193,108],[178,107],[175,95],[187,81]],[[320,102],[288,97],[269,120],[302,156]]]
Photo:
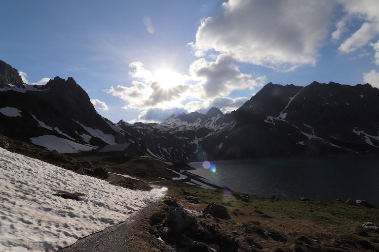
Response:
[[[100,116],[72,77],[31,86],[0,62],[0,83],[0,134],[67,153],[137,140]]]

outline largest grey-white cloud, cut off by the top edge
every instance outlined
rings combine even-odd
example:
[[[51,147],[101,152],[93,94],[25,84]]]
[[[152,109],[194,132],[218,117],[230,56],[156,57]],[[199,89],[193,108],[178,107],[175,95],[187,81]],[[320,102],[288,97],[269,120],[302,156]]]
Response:
[[[329,1],[229,0],[201,23],[190,45],[198,57],[215,50],[238,62],[293,70],[315,64],[332,15]]]

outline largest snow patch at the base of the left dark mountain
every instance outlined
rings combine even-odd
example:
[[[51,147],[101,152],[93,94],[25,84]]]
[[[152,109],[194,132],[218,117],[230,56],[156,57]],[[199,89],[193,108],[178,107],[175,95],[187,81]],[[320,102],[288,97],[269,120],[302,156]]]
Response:
[[[30,141],[46,148],[49,151],[57,150],[59,153],[76,153],[81,151],[91,151],[97,146],[79,144],[69,139],[60,138],[54,135],[42,135],[30,138]]]

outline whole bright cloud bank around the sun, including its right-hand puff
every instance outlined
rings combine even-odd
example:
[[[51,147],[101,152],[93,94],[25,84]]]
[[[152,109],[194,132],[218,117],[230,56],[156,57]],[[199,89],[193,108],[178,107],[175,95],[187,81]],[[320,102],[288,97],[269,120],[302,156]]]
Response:
[[[264,84],[265,76],[253,79],[251,74],[242,73],[234,62],[230,55],[219,55],[215,61],[201,58],[190,65],[189,75],[167,69],[151,71],[143,63],[133,62],[129,64],[129,75],[134,78],[131,86],[112,86],[105,92],[127,101],[124,109],[144,110],[140,119],[146,121],[150,118],[157,121],[161,119],[157,116],[159,113],[166,116],[167,111],[174,108],[202,111],[210,108],[216,98],[230,95],[234,90],[253,90]],[[230,99],[221,109],[234,109],[232,102],[237,101]],[[161,110],[152,110],[158,107]]]

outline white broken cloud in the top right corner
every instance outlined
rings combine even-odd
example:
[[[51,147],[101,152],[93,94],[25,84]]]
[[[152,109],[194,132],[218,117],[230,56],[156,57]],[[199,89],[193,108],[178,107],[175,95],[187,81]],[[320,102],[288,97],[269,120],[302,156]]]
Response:
[[[367,45],[379,34],[379,4],[377,0],[339,0],[345,15],[337,23],[332,38],[337,41],[342,34],[349,32],[349,22],[358,19],[363,23],[360,28],[349,34],[339,46],[341,53],[351,53]]]

